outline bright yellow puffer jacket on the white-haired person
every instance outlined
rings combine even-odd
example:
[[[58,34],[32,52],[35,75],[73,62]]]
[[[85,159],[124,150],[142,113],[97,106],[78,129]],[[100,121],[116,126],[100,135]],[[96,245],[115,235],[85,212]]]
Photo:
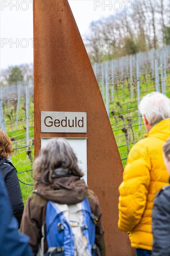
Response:
[[[170,118],[153,125],[128,155],[119,186],[118,227],[128,232],[131,246],[152,249],[151,212],[157,192],[169,184],[163,163],[163,144],[170,136]],[[156,227],[153,227],[153,232]]]

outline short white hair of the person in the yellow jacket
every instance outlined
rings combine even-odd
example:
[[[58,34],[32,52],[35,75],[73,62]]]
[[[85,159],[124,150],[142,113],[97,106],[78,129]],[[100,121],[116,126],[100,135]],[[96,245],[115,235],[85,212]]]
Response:
[[[146,116],[149,124],[170,117],[170,99],[164,94],[152,92],[143,97],[139,111]]]

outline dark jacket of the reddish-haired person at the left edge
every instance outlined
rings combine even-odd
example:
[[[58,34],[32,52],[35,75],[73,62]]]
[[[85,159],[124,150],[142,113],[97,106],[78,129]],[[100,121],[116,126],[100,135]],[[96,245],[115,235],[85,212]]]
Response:
[[[5,181],[9,200],[19,226],[24,211],[24,203],[22,200],[20,183],[17,177],[17,171],[13,164],[6,158],[0,157],[0,173]]]

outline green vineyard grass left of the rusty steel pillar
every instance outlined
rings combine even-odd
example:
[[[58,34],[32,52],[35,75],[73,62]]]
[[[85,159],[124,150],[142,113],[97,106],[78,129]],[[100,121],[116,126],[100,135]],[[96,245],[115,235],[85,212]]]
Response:
[[[14,115],[13,116],[11,115],[11,121],[8,117],[5,118],[7,134],[13,140],[12,141],[13,149],[15,149],[12,154],[12,161],[18,173],[31,169],[30,159],[26,155],[26,130],[24,129],[24,127],[26,127],[26,120],[25,120],[25,115],[23,114],[24,110],[22,109],[24,107],[24,101],[25,101],[25,98],[21,97],[19,117],[22,117],[23,119],[18,122],[17,129],[15,129],[16,117]],[[7,106],[5,106],[4,112],[10,113],[12,109],[14,112],[13,102],[11,101],[10,108],[8,109]],[[30,140],[33,141],[34,139],[33,96],[30,97],[29,113],[30,113],[29,138]],[[30,141],[29,145],[31,143],[32,142]],[[34,160],[34,145],[31,146],[31,150],[32,150],[32,157]],[[33,177],[34,177],[33,171],[18,174],[18,178],[20,179],[20,181],[27,184],[34,184]],[[31,195],[34,186],[29,186],[20,182],[20,187],[21,187],[24,203],[26,203],[27,197]]]

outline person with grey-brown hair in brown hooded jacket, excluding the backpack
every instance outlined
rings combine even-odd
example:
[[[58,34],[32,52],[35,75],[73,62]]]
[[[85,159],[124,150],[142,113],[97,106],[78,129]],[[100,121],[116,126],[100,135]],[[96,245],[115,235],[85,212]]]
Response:
[[[41,241],[41,227],[46,221],[46,205],[48,201],[58,204],[77,204],[85,197],[88,199],[92,213],[97,216],[95,243],[100,256],[105,256],[104,229],[101,221],[101,209],[98,198],[89,190],[83,173],[78,168],[77,157],[71,146],[64,139],[50,140],[35,160],[36,191],[29,196],[22,217],[20,231],[30,236],[30,245],[37,255]],[[48,249],[46,239],[44,251]]]

